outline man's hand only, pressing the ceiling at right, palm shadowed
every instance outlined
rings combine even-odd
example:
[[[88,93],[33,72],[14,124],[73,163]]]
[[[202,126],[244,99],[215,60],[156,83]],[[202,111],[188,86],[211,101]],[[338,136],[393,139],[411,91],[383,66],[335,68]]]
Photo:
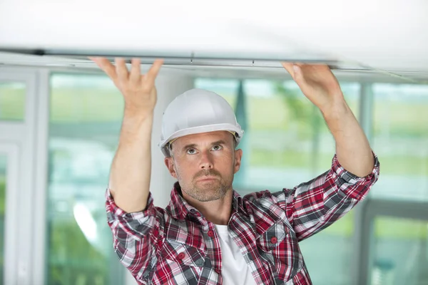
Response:
[[[282,66],[323,114],[345,102],[340,85],[328,66],[293,63],[282,63]]]

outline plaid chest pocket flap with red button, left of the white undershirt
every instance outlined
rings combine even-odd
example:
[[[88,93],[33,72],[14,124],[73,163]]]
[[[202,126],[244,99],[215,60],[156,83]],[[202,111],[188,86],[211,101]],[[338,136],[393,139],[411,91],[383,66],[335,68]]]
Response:
[[[205,252],[197,247],[165,239],[161,255],[170,264],[177,266],[201,267],[205,264]]]

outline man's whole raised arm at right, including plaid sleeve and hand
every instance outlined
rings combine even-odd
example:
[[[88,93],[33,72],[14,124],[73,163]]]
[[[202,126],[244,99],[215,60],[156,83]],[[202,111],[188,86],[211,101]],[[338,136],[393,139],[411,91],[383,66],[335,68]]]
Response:
[[[379,177],[379,160],[328,66],[282,65],[321,110],[336,142],[330,170],[273,194],[301,241],[330,226],[367,197]]]

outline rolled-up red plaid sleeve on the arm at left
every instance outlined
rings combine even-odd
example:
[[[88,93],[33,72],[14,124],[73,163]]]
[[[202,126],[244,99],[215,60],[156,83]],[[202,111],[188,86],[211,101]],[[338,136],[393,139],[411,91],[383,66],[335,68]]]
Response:
[[[116,205],[108,189],[106,212],[119,260],[136,279],[146,279],[156,264],[156,247],[163,237],[163,213],[153,205],[151,194],[146,209],[127,213]]]

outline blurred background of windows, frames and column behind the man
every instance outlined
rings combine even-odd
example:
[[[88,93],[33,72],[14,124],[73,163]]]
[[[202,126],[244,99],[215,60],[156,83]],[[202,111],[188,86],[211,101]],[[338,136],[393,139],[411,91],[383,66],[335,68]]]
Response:
[[[368,199],[301,243],[312,280],[428,284],[428,85],[338,78],[381,175]],[[193,87],[233,106],[245,129],[234,181],[241,195],[294,187],[330,168],[332,135],[285,71],[275,78],[161,73],[157,83],[157,108]],[[113,253],[104,208],[122,115],[121,94],[103,73],[0,69],[0,280],[32,270],[49,285],[134,284]],[[160,118],[158,111],[155,129]],[[152,192],[164,207],[173,180],[158,138],[153,130],[152,187],[159,188]],[[5,258],[14,250],[28,263]]]

